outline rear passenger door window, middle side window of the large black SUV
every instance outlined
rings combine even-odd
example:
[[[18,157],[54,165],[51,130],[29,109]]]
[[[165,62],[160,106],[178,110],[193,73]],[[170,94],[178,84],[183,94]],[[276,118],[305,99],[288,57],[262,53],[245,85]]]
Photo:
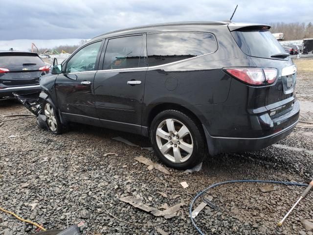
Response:
[[[104,70],[145,67],[143,35],[113,38],[104,56]]]

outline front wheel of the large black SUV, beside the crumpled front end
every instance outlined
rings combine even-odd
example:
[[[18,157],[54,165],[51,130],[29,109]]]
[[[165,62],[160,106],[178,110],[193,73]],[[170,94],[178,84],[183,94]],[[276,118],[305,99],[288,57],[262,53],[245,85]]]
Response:
[[[48,130],[53,134],[61,134],[63,125],[61,124],[59,114],[47,101],[43,103],[43,114],[46,118]]]

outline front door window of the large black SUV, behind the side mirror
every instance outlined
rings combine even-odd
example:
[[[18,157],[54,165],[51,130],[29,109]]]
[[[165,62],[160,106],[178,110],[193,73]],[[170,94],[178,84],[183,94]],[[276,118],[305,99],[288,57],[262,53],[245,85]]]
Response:
[[[101,42],[90,44],[80,49],[67,62],[66,72],[93,71]]]

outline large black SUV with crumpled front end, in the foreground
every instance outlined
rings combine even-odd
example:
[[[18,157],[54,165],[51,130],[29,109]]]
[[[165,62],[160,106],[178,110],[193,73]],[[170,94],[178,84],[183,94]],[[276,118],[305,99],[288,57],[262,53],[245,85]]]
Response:
[[[38,121],[56,134],[72,121],[150,137],[178,169],[267,147],[299,117],[296,67],[269,28],[187,22],[95,37],[41,80]]]

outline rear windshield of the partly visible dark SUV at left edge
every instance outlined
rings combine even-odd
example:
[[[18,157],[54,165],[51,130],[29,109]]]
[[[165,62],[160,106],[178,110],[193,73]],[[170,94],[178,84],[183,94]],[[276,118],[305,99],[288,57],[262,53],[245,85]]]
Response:
[[[44,61],[34,55],[2,55],[0,54],[0,65],[5,66],[22,66],[23,64],[36,64],[42,65],[45,64]]]

